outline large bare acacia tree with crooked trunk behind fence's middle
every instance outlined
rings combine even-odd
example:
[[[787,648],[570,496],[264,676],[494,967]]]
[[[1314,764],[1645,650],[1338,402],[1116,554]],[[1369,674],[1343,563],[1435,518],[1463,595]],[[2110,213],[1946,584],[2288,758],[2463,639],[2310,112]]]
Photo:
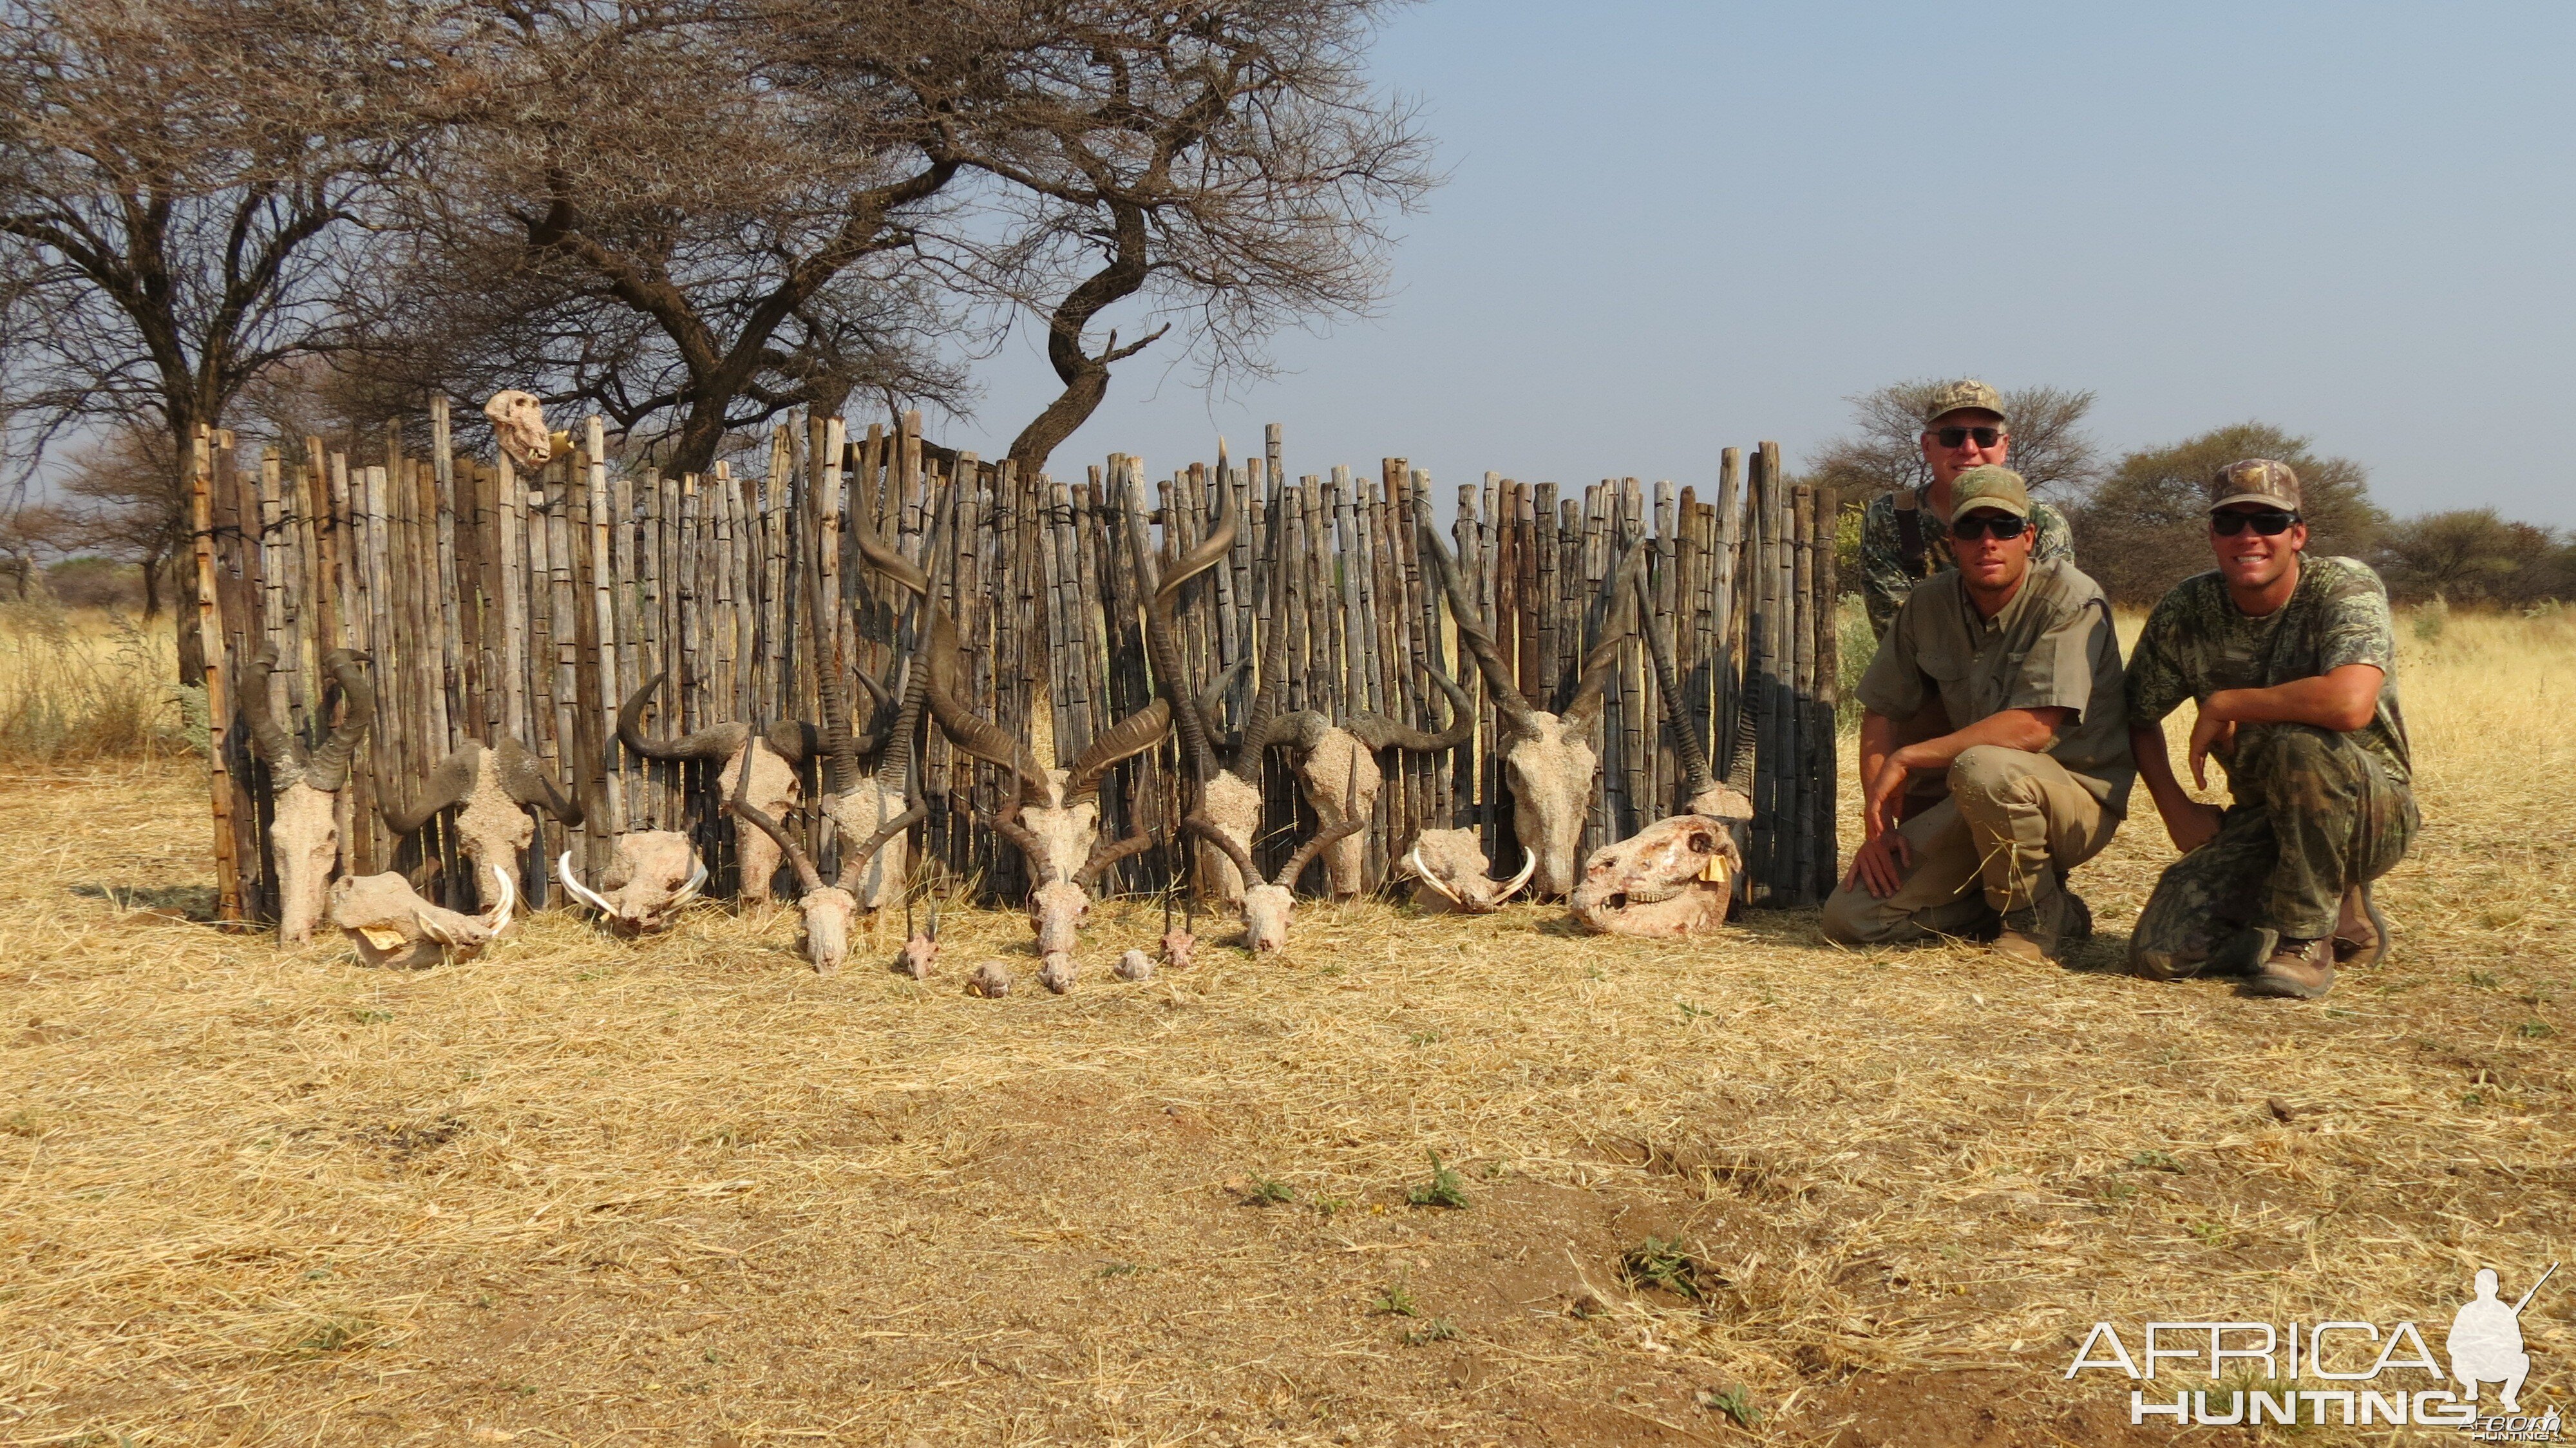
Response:
[[[402,350],[675,469],[853,389],[961,407],[1030,312],[1064,397],[1012,456],[1043,466],[1172,325],[1213,376],[1365,309],[1381,214],[1430,183],[1360,75],[1388,0],[477,5],[435,57]],[[1092,345],[1126,299],[1157,330]]]

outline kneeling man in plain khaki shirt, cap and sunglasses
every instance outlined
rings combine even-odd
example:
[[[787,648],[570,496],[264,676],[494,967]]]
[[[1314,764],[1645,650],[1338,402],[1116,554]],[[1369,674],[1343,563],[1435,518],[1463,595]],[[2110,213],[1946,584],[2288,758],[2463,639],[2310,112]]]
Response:
[[[2102,853],[2136,770],[2120,703],[2120,639],[2102,587],[2074,562],[2035,562],[2022,474],[1950,479],[1955,567],[1896,608],[1860,680],[1868,840],[1824,902],[1834,940],[1893,943],[1984,933],[2056,958],[2092,933],[2066,871]],[[1899,742],[1937,698],[1955,732]],[[1899,824],[1899,796],[1929,776],[1940,799]]]

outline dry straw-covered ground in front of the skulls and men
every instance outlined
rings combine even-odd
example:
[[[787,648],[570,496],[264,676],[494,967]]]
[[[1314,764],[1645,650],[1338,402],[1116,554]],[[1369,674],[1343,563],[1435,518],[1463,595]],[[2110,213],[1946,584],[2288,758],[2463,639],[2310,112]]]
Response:
[[[1355,904],[1151,984],[1113,910],[1061,1000],[1010,915],[927,987],[721,910],[389,974],[188,920],[185,763],[26,765],[0,1443],[2164,1438],[2061,1381],[2094,1319],[2439,1345],[2478,1265],[2576,1257],[2576,626],[2403,667],[2398,951],[2321,1005],[2110,974],[2151,822],[2074,969]],[[2524,1402],[2576,1407],[2571,1309]]]

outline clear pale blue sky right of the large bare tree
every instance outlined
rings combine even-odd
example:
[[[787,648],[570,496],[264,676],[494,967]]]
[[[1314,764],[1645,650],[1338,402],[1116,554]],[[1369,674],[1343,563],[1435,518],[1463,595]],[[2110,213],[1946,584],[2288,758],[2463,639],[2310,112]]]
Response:
[[[1154,353],[1054,459],[1401,453],[1708,487],[1909,376],[2099,392],[2112,451],[2262,417],[2396,513],[2576,526],[2576,5],[1538,5],[1383,33],[1450,180],[1383,317],[1211,397]],[[1128,319],[1133,335],[1133,319]],[[1051,394],[981,366],[999,453]]]

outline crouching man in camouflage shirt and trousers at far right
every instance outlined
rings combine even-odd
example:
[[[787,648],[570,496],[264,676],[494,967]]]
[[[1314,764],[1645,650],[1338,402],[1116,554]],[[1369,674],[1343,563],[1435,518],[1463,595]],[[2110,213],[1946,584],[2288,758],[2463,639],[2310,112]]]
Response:
[[[2182,850],[2130,938],[2148,979],[2226,971],[2251,995],[2313,1000],[2336,961],[2388,948],[2370,881],[2416,832],[2388,590],[2367,564],[2306,557],[2298,508],[2287,464],[2218,469],[2218,572],[2174,585],[2128,662],[2130,747]],[[2200,701],[2192,783],[2208,788],[2218,755],[2226,812],[2174,781],[2159,719],[2184,698]]]

